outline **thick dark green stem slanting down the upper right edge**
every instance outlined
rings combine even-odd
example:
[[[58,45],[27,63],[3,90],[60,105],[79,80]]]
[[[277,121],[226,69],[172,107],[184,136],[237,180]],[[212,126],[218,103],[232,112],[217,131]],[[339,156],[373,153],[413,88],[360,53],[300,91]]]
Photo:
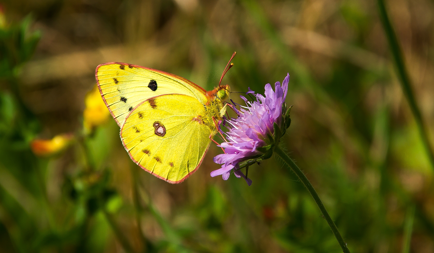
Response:
[[[427,152],[428,159],[430,160],[431,167],[434,170],[434,152],[431,147],[430,141],[428,139],[427,128],[422,119],[421,111],[416,104],[416,99],[414,98],[414,92],[411,88],[410,78],[408,77],[407,70],[404,64],[404,57],[401,52],[401,47],[399,46],[398,38],[396,37],[395,31],[390,23],[386,7],[384,4],[384,0],[378,0],[378,11],[380,13],[381,23],[383,24],[387,40],[389,42],[389,47],[391,53],[393,55],[393,59],[395,60],[395,65],[398,70],[398,77],[401,80],[402,90],[404,91],[405,96],[407,97],[408,104],[411,109],[411,113],[413,113],[414,120],[416,120],[416,124],[418,126],[419,133],[422,138],[422,143]]]

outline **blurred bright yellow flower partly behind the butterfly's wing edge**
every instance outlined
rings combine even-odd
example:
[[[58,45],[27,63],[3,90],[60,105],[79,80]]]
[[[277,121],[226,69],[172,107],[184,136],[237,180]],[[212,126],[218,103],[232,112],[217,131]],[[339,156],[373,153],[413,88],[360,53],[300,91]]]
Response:
[[[89,132],[95,126],[99,126],[107,121],[110,117],[110,112],[102,101],[98,87],[95,85],[89,91],[85,98],[86,108],[83,112],[83,126],[85,131]]]

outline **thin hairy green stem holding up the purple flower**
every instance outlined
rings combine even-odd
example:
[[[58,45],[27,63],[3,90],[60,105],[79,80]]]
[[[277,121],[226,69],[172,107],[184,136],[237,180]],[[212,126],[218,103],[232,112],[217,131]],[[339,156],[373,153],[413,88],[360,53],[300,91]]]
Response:
[[[319,210],[321,210],[322,215],[324,216],[324,219],[329,223],[330,228],[332,229],[333,234],[336,237],[336,240],[338,240],[339,245],[342,248],[342,251],[344,253],[350,253],[346,243],[344,242],[344,239],[342,238],[341,234],[339,233],[338,228],[336,227],[335,223],[333,222],[332,218],[330,218],[329,213],[327,213],[327,210],[325,210],[325,206],[322,204],[321,199],[318,196],[318,193],[316,193],[315,189],[313,188],[312,184],[309,182],[307,177],[304,175],[304,173],[300,170],[300,168],[293,162],[289,156],[283,152],[279,148],[279,146],[276,146],[274,148],[274,152],[280,156],[280,158],[283,159],[283,161],[288,164],[288,166],[296,173],[296,175],[299,177],[299,179],[303,182],[304,186],[306,186],[309,193],[312,195],[313,199],[315,200],[316,204],[319,207]]]

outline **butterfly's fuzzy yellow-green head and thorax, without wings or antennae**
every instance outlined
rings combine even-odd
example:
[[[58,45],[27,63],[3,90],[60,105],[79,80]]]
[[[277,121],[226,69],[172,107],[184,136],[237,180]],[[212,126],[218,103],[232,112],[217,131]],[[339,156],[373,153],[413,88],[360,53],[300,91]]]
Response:
[[[216,124],[213,118],[218,123],[222,120],[224,113],[226,113],[226,100],[229,100],[230,87],[228,85],[222,85],[207,92],[206,96],[208,98],[205,104],[205,118],[202,119],[203,123],[206,124],[213,134],[217,133]]]

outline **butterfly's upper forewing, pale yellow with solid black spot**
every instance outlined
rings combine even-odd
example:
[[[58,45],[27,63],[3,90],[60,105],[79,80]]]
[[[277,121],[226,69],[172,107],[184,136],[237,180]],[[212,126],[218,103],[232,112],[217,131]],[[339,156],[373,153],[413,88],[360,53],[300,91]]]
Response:
[[[103,63],[95,70],[102,98],[119,126],[139,103],[161,94],[184,94],[206,103],[206,91],[160,70],[127,63]]]

